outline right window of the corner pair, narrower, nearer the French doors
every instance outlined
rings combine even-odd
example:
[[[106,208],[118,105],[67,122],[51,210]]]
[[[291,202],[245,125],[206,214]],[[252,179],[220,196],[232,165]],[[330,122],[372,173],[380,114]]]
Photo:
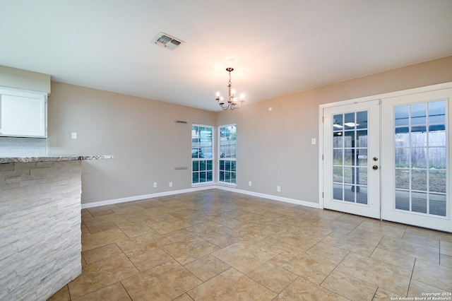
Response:
[[[220,158],[218,181],[235,184],[237,126],[220,126]]]

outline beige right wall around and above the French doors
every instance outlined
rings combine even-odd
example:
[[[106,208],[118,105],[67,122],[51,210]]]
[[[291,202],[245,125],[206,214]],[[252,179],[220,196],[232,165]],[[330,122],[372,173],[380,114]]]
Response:
[[[451,81],[446,57],[218,113],[237,123],[237,189],[319,203],[319,105]]]

